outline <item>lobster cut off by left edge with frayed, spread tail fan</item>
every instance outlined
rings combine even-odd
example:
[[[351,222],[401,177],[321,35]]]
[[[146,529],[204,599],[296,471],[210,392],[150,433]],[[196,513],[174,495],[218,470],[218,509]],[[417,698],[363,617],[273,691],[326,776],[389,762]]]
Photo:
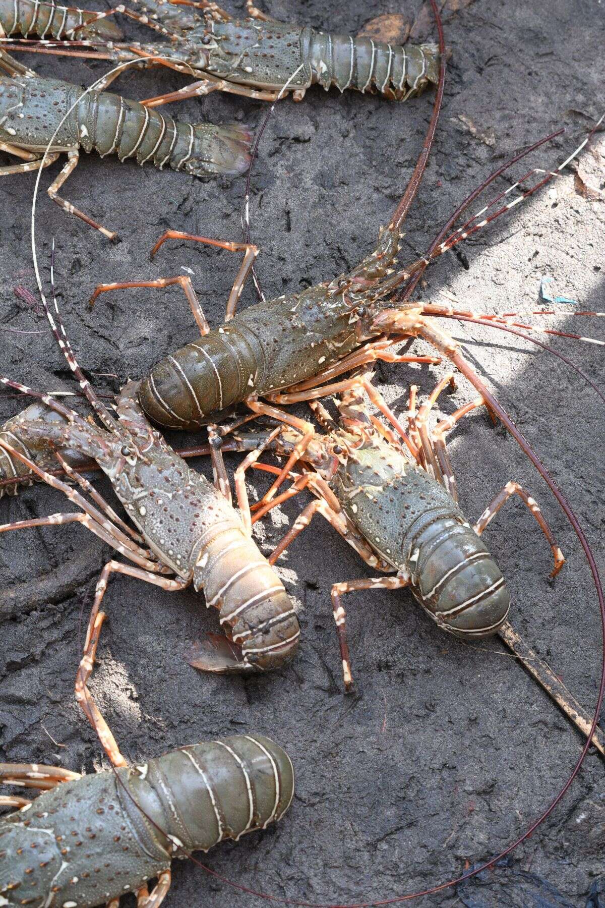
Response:
[[[77,166],[79,148],[93,148],[121,161],[136,157],[160,170],[194,176],[244,173],[249,165],[250,133],[238,125],[177,123],[120,94],[84,91],[59,79],[44,79],[0,50],[0,150],[24,163],[0,167],[0,176],[39,170],[67,153],[67,163],[48,188],[63,211],[75,214],[108,237],[107,230],[58,194]],[[51,143],[49,145],[49,143]]]

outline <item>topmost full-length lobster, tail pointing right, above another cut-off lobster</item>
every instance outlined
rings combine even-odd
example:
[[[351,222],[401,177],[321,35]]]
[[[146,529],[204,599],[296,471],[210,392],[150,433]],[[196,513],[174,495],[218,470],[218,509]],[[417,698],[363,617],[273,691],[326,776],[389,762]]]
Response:
[[[217,90],[275,101],[285,85],[284,94],[291,92],[299,101],[313,84],[323,85],[326,91],[334,85],[341,92],[352,88],[405,101],[437,83],[436,44],[404,47],[276,22],[251,2],[247,3],[249,18],[243,20],[233,19],[210,2],[199,4],[206,9],[203,17],[155,0],[136,0],[136,5],[142,15],[134,17],[171,37],[171,44],[102,44],[94,39],[76,41],[78,46],[72,50],[55,42],[46,42],[46,48],[116,62],[139,61],[141,66],[163,65],[197,77],[197,82],[180,91],[148,98],[144,104],[151,107]],[[132,15],[123,6],[118,10]],[[96,14],[96,21],[112,12]],[[43,47],[36,42],[26,45],[33,51]]]

